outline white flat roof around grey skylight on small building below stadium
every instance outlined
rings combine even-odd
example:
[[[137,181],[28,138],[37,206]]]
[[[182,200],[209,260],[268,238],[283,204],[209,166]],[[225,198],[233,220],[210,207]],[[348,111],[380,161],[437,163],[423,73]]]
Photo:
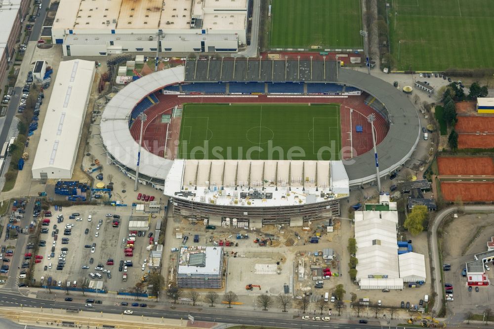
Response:
[[[206,253],[206,266],[189,266],[189,258],[193,253]],[[181,247],[178,260],[178,274],[185,275],[220,275],[222,247]]]

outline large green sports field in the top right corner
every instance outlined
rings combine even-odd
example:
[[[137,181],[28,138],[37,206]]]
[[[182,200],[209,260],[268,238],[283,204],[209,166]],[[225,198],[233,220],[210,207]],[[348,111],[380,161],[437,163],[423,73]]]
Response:
[[[492,0],[392,0],[389,18],[398,70],[494,68]]]

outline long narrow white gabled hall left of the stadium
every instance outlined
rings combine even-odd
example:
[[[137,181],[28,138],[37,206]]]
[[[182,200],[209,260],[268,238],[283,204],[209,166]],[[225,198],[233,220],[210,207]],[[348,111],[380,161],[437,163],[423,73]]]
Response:
[[[94,64],[84,60],[60,62],[33,163],[34,179],[72,177]]]

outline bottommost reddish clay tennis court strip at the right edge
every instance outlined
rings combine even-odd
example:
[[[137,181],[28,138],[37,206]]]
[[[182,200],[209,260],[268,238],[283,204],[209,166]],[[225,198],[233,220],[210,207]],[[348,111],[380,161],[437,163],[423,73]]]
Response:
[[[493,201],[494,182],[441,182],[444,200],[463,202]]]

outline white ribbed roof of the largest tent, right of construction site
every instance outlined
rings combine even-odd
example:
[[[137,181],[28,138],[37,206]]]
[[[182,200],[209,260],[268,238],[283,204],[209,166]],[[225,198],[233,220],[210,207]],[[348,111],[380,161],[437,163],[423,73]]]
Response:
[[[379,211],[356,211],[355,218],[357,280],[369,276],[399,278],[396,223],[379,218]]]

